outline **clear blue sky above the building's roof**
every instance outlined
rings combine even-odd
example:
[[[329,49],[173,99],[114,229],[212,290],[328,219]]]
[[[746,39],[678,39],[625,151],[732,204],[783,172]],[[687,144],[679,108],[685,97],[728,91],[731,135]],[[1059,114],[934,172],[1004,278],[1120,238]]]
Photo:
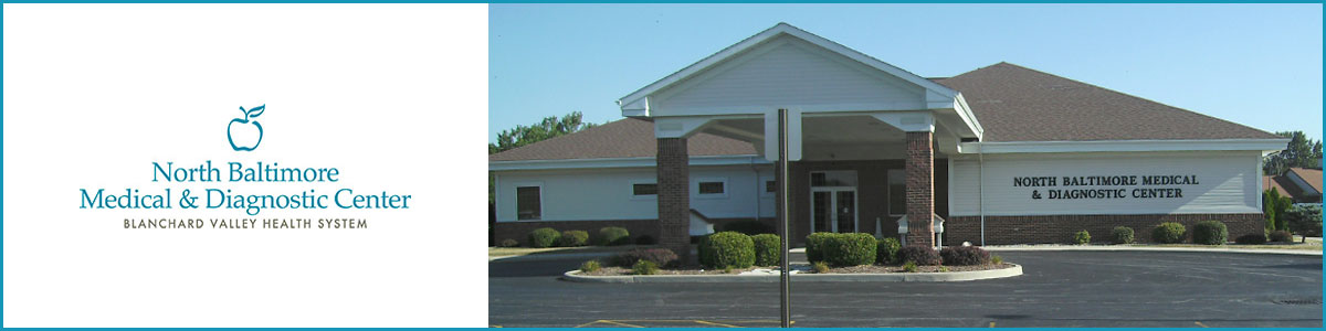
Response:
[[[1322,5],[489,5],[488,142],[615,101],[780,21],[923,77],[1000,61],[1322,136]]]

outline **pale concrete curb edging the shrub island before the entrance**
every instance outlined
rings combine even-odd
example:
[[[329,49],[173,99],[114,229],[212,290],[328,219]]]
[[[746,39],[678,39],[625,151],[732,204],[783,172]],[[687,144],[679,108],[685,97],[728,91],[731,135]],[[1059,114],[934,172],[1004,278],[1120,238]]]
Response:
[[[587,283],[776,283],[777,274],[748,275],[581,275],[579,270],[562,274],[562,279]],[[1006,278],[1022,274],[1021,265],[1013,267],[952,271],[952,273],[894,273],[894,274],[792,274],[794,282],[965,282],[992,278]]]

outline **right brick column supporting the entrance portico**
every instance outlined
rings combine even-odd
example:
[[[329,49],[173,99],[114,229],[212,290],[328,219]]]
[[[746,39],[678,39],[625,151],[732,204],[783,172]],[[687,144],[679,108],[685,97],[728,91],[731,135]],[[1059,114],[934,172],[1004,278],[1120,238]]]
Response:
[[[907,132],[907,245],[935,245],[935,150],[932,132]]]

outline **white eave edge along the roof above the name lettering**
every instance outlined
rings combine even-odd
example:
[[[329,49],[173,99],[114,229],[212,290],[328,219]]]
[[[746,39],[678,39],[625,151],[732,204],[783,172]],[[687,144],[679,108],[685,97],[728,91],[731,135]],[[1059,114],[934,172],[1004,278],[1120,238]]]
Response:
[[[1159,151],[1260,151],[1285,148],[1289,139],[1185,139],[1185,140],[1089,140],[1089,142],[967,142],[959,154],[1034,152],[1159,152]]]

